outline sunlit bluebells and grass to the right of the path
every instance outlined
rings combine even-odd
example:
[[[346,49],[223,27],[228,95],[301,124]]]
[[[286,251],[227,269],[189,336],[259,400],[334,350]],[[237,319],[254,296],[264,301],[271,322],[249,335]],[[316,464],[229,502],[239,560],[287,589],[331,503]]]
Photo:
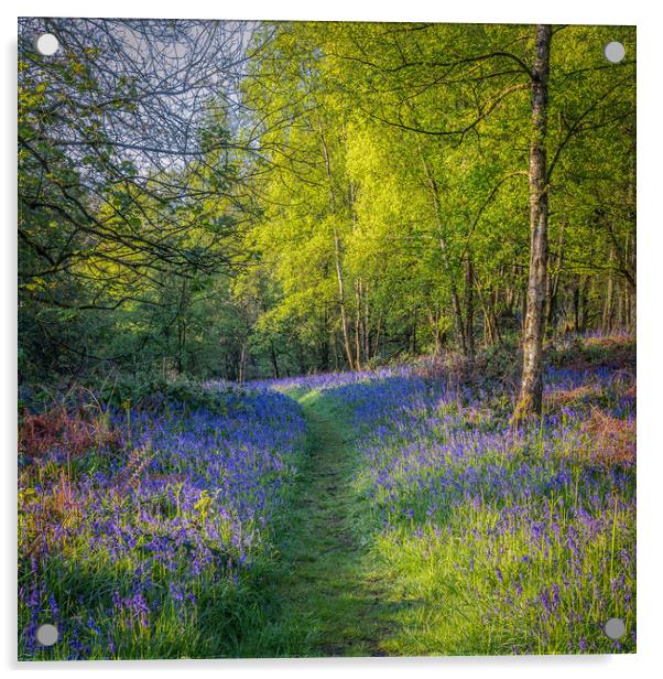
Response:
[[[378,570],[414,602],[387,650],[634,650],[632,385],[619,366],[551,368],[551,409],[518,431],[497,385],[412,375],[330,392],[352,412]],[[619,642],[602,632],[611,616]]]

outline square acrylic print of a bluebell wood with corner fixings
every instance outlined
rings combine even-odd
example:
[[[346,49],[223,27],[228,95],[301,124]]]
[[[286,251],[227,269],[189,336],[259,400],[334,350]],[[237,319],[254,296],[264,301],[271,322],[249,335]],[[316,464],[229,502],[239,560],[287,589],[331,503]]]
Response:
[[[634,653],[634,28],[19,47],[20,659]]]

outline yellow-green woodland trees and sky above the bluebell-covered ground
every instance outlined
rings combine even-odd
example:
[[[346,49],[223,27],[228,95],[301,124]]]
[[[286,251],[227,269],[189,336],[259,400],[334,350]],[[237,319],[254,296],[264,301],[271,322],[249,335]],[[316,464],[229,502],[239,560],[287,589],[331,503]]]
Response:
[[[540,334],[631,332],[635,30],[548,37]],[[20,20],[21,376],[244,380],[522,337],[540,47],[529,25]]]

